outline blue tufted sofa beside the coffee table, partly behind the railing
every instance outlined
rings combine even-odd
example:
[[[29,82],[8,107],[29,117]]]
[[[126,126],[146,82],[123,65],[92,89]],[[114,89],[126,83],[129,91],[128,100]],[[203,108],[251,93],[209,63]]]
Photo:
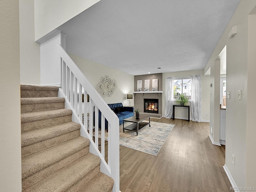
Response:
[[[124,107],[122,103],[108,104],[110,109],[114,111],[119,119],[119,124],[124,122],[124,119],[134,116],[134,107]],[[95,119],[95,116],[94,116]],[[95,121],[94,121],[95,122]],[[94,124],[95,126],[95,124]],[[99,128],[101,128],[101,111],[99,110]],[[105,129],[108,131],[108,121],[105,119]]]

